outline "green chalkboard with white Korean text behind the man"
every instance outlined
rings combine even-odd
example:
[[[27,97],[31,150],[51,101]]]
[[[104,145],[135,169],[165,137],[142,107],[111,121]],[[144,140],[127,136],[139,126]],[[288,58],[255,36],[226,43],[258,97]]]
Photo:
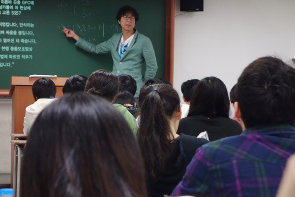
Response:
[[[0,0],[0,89],[9,88],[11,76],[89,76],[97,69],[112,70],[110,54],[89,54],[75,47],[62,27],[100,43],[121,32],[115,17],[126,4],[138,11],[135,28],[150,38],[159,67],[156,77],[164,77],[166,1]]]

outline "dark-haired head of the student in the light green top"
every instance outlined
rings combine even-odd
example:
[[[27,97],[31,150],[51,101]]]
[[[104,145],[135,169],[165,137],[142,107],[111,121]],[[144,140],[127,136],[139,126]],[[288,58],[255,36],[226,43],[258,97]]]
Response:
[[[108,70],[96,70],[88,77],[85,92],[112,102],[119,90],[118,77]]]

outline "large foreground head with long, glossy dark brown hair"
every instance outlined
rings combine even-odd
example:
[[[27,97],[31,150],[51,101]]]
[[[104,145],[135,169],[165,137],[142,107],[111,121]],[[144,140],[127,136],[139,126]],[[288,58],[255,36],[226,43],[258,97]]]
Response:
[[[22,197],[143,197],[144,165],[129,125],[109,102],[68,94],[32,126]]]

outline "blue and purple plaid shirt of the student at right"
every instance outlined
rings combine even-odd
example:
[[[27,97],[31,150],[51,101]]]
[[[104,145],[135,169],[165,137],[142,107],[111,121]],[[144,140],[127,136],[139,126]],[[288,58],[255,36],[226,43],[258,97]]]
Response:
[[[208,143],[197,150],[172,197],[274,197],[294,153],[295,129],[288,124]]]

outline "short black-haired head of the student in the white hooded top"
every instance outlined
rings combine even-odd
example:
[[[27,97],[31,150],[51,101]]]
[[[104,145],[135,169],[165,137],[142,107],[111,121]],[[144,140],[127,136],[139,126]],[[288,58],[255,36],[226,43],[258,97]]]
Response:
[[[57,87],[51,79],[43,77],[33,83],[32,92],[35,100],[49,99],[56,96]]]

